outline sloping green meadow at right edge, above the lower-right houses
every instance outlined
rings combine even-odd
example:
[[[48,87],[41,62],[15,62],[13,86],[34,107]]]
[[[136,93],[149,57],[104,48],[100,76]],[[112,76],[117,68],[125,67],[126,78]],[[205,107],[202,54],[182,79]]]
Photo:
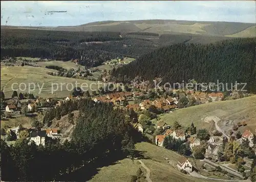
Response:
[[[211,102],[193,107],[178,109],[173,113],[161,116],[161,120],[172,125],[175,121],[183,126],[194,122],[198,128],[207,128],[209,123],[202,119],[217,116],[221,120],[234,122],[246,121],[247,127],[256,129],[256,96],[245,97],[237,100]]]

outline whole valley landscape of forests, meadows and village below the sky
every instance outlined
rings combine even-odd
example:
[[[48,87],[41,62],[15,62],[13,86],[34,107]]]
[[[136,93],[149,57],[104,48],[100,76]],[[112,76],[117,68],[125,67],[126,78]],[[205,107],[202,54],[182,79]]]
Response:
[[[255,24],[92,19],[1,25],[1,180],[256,181]]]

